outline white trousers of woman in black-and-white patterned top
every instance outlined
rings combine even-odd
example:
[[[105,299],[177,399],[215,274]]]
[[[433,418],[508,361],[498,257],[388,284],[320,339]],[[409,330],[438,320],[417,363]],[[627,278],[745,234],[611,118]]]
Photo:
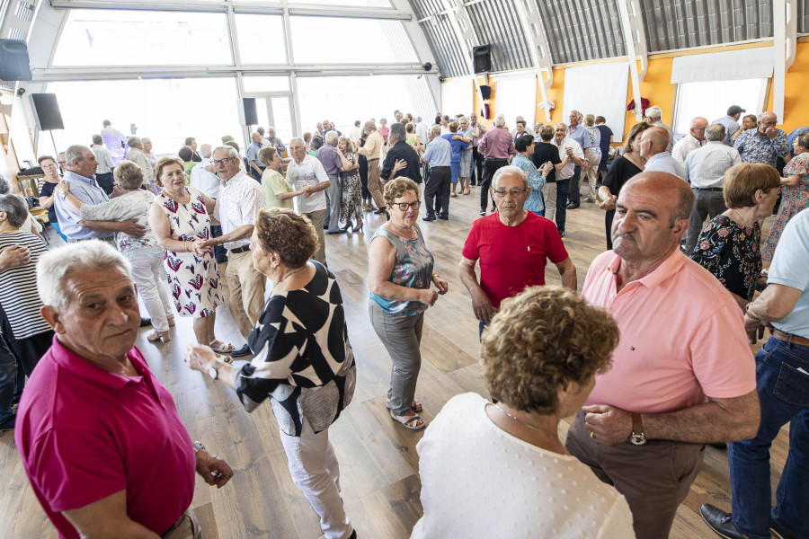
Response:
[[[329,429],[315,434],[307,420],[299,437],[280,432],[292,482],[320,517],[326,539],[347,539],[353,528],[340,498],[340,466],[329,441]]]

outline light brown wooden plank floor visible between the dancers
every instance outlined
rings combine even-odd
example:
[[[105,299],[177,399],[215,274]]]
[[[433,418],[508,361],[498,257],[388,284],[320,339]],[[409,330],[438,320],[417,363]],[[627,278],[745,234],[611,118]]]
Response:
[[[477,322],[456,269],[469,226],[478,217],[477,192],[473,188],[472,195],[451,199],[449,221],[421,223],[435,255],[436,270],[449,280],[449,294],[440,296],[424,323],[417,395],[428,421],[453,395],[468,391],[487,394],[477,364]],[[342,499],[358,534],[400,539],[410,535],[422,513],[415,449],[422,432],[402,428],[387,414],[390,360],[369,323],[367,248],[383,217],[367,214],[365,234],[326,236],[327,259],[342,289],[359,373],[353,402],[330,432],[341,466]],[[603,213],[592,204],[568,212],[565,245],[576,265],[580,289],[590,262],[605,248],[603,222]],[[553,265],[547,270],[547,282],[559,284]],[[241,344],[227,307],[219,313],[218,336]],[[205,537],[319,537],[315,512],[289,479],[270,406],[262,405],[248,414],[224,384],[184,366],[183,352],[193,341],[190,320],[178,320],[173,340],[167,344],[148,343],[148,331],[151,329],[141,331],[138,347],[173,394],[191,437],[225,457],[235,472],[221,490],[210,489],[198,477],[193,508]],[[561,430],[566,429],[563,422]],[[774,486],[787,444],[784,430],[772,449]],[[726,452],[710,447],[705,466],[680,507],[671,537],[716,537],[699,517],[698,508],[704,502],[730,507]],[[23,473],[12,434],[5,434],[0,437],[0,537],[56,536]]]

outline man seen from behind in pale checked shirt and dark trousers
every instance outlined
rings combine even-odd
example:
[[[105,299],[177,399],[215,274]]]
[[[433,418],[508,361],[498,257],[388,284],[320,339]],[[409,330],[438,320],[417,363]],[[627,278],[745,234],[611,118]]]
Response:
[[[725,172],[734,164],[742,163],[733,146],[725,146],[725,126],[713,124],[707,128],[707,146],[694,150],[686,158],[685,181],[694,191],[694,209],[691,210],[686,254],[694,252],[702,224],[706,217],[713,219],[727,211],[725,206]]]

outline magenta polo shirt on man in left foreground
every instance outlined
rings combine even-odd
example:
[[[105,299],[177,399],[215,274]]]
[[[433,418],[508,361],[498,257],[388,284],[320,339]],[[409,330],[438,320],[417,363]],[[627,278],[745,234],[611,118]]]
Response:
[[[124,489],[129,518],[158,535],[191,506],[191,438],[140,351],[128,356],[141,376],[95,367],[54,337],[22,393],[14,441],[59,537],[79,537],[61,511]]]

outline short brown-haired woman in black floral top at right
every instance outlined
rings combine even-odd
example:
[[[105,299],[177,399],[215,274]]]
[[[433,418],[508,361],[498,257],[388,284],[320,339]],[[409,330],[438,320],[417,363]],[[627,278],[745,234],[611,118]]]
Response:
[[[761,273],[761,225],[772,214],[781,180],[763,163],[740,163],[724,179],[728,210],[711,219],[699,234],[691,259],[713,273],[745,309]]]

